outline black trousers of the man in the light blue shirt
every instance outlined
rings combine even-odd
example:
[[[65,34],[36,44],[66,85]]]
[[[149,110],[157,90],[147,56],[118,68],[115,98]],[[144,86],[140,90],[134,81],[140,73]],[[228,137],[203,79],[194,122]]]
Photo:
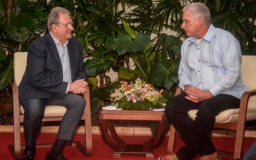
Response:
[[[186,94],[171,99],[166,105],[167,121],[183,135],[186,145],[176,153],[179,160],[193,159],[200,156],[213,154],[216,149],[212,144],[209,134],[213,130],[215,116],[227,109],[239,108],[240,99],[219,94],[202,102],[192,102],[185,98]],[[193,121],[188,116],[188,111],[198,109],[196,119]]]

